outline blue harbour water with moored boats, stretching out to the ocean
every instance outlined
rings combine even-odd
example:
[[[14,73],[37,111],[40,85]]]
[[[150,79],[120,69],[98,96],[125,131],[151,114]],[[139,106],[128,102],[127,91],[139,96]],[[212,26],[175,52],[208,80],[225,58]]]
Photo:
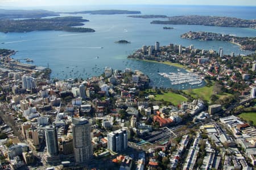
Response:
[[[234,16],[252,19],[256,16],[256,7],[209,7],[209,6],[86,6],[72,9],[49,9],[55,11],[80,11],[95,9],[126,9],[140,10],[142,14],[174,15],[216,15]],[[218,9],[218,10],[216,10]],[[201,11],[201,13],[200,13]],[[246,11],[246,13],[245,13]],[[246,14],[246,15],[245,15]],[[65,14],[67,15],[67,14]],[[62,16],[65,16],[62,15]],[[256,30],[250,28],[229,28],[210,26],[169,25],[174,30],[164,30],[163,25],[150,24],[154,19],[129,18],[127,15],[90,15],[77,14],[89,19],[84,27],[93,28],[96,32],[74,33],[63,31],[34,31],[27,33],[0,33],[0,48],[18,51],[14,59],[29,58],[34,64],[52,69],[52,77],[88,78],[98,76],[104,67],[113,69],[139,69],[147,74],[155,86],[183,89],[181,85],[171,85],[158,74],[159,72],[177,73],[177,68],[160,63],[151,63],[127,59],[127,55],[141,48],[142,45],[160,45],[170,43],[195,48],[214,49],[224,48],[225,54],[234,52],[236,55],[249,54],[250,51],[241,51],[236,44],[228,42],[200,42],[198,40],[181,39],[180,35],[188,31],[208,31],[237,36],[255,36]],[[125,39],[130,44],[117,44],[117,40]],[[4,44],[2,44],[4,42]],[[26,61],[24,61],[26,62]],[[181,71],[186,72],[186,71]],[[201,84],[204,86],[204,84]],[[200,86],[184,85],[187,88]]]

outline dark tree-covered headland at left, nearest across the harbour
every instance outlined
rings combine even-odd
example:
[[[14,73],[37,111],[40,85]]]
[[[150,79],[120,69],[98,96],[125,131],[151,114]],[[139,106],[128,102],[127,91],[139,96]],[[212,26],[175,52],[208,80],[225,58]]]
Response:
[[[83,26],[88,22],[80,16],[65,16],[47,19],[2,19],[0,32],[30,32],[30,31],[68,31],[68,32],[94,32],[92,28],[74,27]]]

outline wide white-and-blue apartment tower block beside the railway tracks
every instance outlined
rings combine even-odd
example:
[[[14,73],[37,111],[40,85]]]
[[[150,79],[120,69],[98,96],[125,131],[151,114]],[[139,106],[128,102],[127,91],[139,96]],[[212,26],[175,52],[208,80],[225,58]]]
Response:
[[[114,152],[126,150],[128,137],[126,130],[116,130],[108,134],[108,149]]]

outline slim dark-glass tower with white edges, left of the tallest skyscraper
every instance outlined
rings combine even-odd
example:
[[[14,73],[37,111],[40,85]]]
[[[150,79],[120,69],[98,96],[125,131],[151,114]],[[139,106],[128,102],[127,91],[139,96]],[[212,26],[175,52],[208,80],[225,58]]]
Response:
[[[59,155],[57,131],[54,126],[46,126],[46,148],[48,156]]]

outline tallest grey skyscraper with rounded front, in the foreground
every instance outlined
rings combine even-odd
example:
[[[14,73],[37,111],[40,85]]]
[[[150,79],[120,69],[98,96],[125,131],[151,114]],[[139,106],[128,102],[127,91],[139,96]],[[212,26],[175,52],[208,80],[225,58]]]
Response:
[[[84,164],[93,155],[90,136],[91,125],[85,118],[73,118],[72,124],[75,161],[77,164]]]

